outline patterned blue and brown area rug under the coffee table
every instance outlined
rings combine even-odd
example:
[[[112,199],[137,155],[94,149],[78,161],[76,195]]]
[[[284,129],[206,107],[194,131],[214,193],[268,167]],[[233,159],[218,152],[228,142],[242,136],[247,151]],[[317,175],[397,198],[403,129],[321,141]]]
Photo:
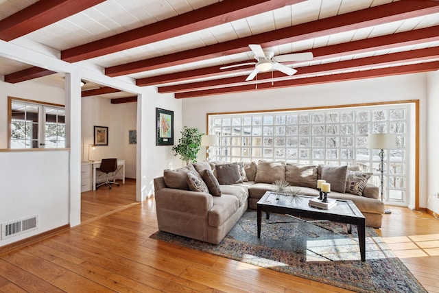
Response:
[[[151,237],[356,292],[427,292],[373,228],[363,262],[354,225],[349,234],[346,224],[272,213],[258,239],[256,219],[256,211],[244,213],[218,245],[161,231]]]

